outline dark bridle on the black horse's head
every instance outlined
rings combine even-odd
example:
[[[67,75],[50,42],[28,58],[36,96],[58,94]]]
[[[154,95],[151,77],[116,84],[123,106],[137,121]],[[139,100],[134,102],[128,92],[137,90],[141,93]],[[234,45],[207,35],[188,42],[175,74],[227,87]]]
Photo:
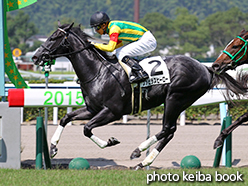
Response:
[[[41,59],[42,61],[44,62],[48,62],[48,61],[52,61],[53,59],[57,58],[57,57],[62,57],[62,56],[70,56],[72,54],[76,54],[76,53],[79,53],[87,48],[90,47],[90,44],[86,44],[85,46],[85,42],[76,34],[74,33],[73,31],[65,31],[64,29],[62,28],[58,28],[58,31],[60,31],[61,33],[64,34],[64,37],[63,39],[61,40],[61,42],[55,47],[55,48],[48,48],[47,46],[45,45],[41,45],[42,48],[44,48],[45,50],[47,50],[47,52],[44,52],[41,56]],[[70,42],[68,41],[68,36],[69,34],[72,34],[74,37],[76,37],[80,43],[84,46],[83,48],[80,48],[78,50],[75,50],[75,51],[72,51],[72,52],[68,52],[68,53],[61,53],[61,54],[55,54],[53,55],[53,53],[61,46],[63,47],[66,47],[66,48],[70,48]]]

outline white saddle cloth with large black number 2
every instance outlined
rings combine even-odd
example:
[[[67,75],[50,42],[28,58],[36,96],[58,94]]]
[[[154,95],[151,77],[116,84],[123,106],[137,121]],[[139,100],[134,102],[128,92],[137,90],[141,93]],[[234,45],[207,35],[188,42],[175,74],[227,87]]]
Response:
[[[122,61],[119,61],[119,63],[127,73],[127,76],[130,77],[131,68]],[[141,88],[170,83],[167,65],[160,56],[145,58],[140,61],[139,64],[149,75],[149,78],[146,81],[140,83]]]

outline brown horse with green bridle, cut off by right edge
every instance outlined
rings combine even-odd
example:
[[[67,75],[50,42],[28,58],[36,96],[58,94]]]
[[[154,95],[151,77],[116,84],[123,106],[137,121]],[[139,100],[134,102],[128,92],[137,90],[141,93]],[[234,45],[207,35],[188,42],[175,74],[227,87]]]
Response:
[[[242,30],[224,49],[223,53],[215,60],[212,67],[215,72],[222,73],[229,69],[235,69],[242,64],[248,64],[248,31]],[[246,82],[247,75],[243,75]],[[240,116],[229,127],[224,129],[214,142],[214,149],[221,147],[224,139],[243,122],[248,121],[248,112]]]

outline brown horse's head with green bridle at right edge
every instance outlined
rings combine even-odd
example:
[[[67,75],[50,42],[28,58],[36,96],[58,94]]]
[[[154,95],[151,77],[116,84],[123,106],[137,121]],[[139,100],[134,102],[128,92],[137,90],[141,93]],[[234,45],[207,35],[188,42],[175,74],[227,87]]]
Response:
[[[220,56],[212,64],[212,68],[217,73],[235,69],[237,66],[248,62],[248,32],[242,30],[239,36],[234,38],[223,50]]]

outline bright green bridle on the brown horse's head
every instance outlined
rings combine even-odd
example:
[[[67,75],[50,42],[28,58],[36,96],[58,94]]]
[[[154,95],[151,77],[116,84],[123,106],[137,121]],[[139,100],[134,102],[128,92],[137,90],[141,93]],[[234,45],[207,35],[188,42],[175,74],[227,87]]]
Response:
[[[242,37],[240,36],[237,36],[237,38],[239,38],[240,40],[242,40],[244,42],[244,45],[242,46],[242,48],[234,55],[230,54],[229,52],[227,52],[226,50],[223,51],[223,53],[227,54],[230,58],[231,58],[231,63],[226,65],[223,69],[223,70],[226,70],[226,69],[235,69],[239,63],[240,63],[240,60],[245,56],[246,52],[247,52],[247,46],[248,46],[248,41],[243,39]],[[236,59],[236,57],[244,50],[244,53],[243,55]],[[220,72],[221,73],[221,72]]]

